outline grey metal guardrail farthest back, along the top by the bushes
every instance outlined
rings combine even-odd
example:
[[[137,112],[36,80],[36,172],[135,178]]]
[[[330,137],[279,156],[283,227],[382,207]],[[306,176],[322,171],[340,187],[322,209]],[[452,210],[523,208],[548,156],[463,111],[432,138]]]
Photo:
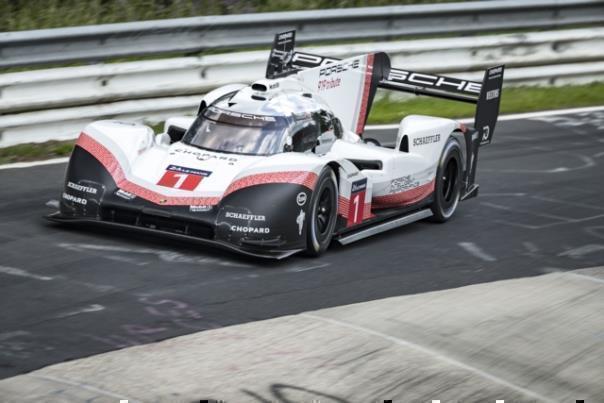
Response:
[[[210,16],[0,33],[0,67],[269,45],[297,29],[299,43],[392,39],[604,22],[600,0],[498,0]]]

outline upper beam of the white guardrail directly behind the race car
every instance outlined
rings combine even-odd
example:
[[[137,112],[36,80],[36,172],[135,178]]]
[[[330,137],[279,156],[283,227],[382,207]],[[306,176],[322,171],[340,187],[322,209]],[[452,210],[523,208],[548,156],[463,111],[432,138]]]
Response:
[[[384,51],[393,66],[455,72],[466,78],[477,78],[472,72],[504,63],[511,71],[506,83],[520,84],[563,83],[567,74],[552,66],[604,62],[602,49],[604,28],[307,48],[338,58]],[[202,94],[223,84],[262,78],[267,59],[268,51],[254,51],[4,74],[0,113]],[[535,70],[537,76],[523,70],[525,74],[514,77],[514,68],[538,66],[548,67]],[[592,74],[588,67],[583,65],[586,74]]]

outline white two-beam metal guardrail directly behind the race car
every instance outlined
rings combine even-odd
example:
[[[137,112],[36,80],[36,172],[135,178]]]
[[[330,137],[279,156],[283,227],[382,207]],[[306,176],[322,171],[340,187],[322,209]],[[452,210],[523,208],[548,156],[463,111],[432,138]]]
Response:
[[[601,49],[604,28],[307,48],[340,58],[382,50],[393,66],[478,81],[482,69],[505,63],[508,86],[604,80]],[[253,51],[0,75],[0,147],[72,138],[103,118],[193,113],[207,90],[263,77],[267,57]]]

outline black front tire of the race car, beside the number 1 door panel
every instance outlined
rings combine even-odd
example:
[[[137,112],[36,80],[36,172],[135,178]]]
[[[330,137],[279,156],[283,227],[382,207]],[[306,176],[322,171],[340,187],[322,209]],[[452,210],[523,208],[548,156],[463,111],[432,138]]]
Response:
[[[338,182],[333,170],[321,171],[306,216],[306,255],[319,256],[329,247],[338,213]]]

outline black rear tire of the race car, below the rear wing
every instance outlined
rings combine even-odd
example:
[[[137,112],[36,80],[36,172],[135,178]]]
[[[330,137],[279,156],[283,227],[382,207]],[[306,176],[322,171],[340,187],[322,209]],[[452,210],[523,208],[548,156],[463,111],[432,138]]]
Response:
[[[453,216],[461,197],[462,165],[461,148],[454,138],[449,138],[438,162],[434,202],[430,209],[431,221],[445,222]]]

